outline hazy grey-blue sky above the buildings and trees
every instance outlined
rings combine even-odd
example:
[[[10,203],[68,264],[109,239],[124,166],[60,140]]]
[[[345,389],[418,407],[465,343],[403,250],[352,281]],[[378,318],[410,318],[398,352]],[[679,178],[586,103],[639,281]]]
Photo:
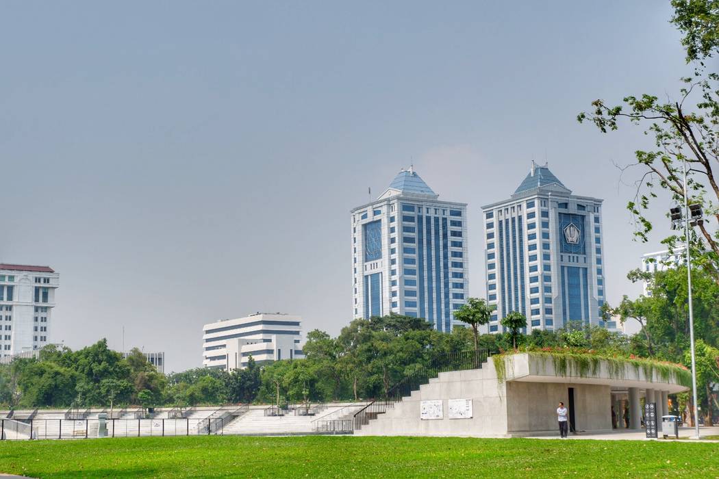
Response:
[[[610,303],[640,292],[626,271],[661,235],[633,243],[613,162],[647,139],[575,116],[678,91],[668,1],[341,3],[0,4],[0,261],[60,273],[53,342],[119,349],[124,325],[178,371],[213,320],[290,312],[335,335],[349,210],[410,163],[469,203],[472,296],[480,206],[545,158],[605,199]]]

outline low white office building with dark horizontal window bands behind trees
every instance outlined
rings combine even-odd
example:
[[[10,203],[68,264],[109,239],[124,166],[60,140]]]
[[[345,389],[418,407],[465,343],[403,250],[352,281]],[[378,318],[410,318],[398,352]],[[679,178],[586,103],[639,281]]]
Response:
[[[232,371],[246,367],[249,356],[257,364],[304,358],[301,322],[300,316],[266,312],[211,322],[202,328],[202,364]]]

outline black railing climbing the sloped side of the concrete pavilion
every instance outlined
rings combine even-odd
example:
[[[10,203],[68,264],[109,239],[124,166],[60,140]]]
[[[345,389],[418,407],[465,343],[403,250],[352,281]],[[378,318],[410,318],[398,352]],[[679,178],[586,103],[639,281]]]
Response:
[[[488,357],[489,353],[485,349],[444,353],[437,356],[426,365],[409,373],[379,398],[370,401],[370,404],[354,413],[354,430],[362,429],[362,426],[369,424],[372,419],[377,419],[379,414],[384,414],[387,409],[393,408],[395,403],[412,394],[412,391],[418,391],[420,386],[429,383],[429,380],[439,376],[439,373],[480,369]]]

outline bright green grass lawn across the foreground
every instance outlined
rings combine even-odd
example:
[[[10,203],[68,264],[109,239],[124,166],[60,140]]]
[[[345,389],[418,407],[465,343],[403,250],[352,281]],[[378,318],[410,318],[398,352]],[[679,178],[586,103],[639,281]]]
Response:
[[[440,437],[139,437],[0,442],[37,478],[719,478],[719,444]]]

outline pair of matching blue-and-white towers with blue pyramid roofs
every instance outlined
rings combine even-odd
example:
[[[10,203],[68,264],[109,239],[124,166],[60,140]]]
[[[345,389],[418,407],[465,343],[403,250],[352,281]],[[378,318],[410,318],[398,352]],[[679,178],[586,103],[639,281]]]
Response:
[[[531,329],[605,326],[601,205],[532,162],[508,200],[482,207],[487,302],[496,306],[484,332],[503,331],[513,311]],[[412,167],[400,171],[352,210],[354,317],[394,312],[452,330],[469,297],[469,241],[467,203],[439,200]]]

